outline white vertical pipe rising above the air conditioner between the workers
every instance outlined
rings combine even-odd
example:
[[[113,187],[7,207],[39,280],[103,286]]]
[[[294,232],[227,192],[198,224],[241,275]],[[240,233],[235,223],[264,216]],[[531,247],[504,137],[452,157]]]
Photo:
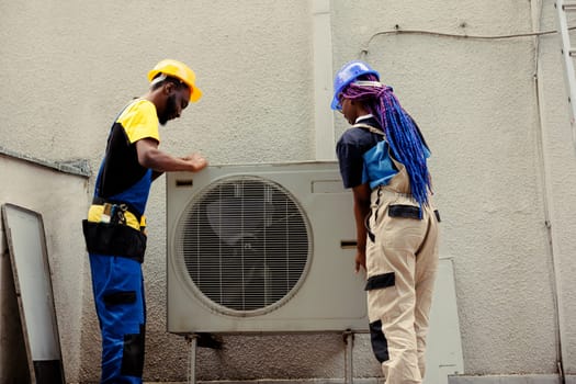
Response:
[[[332,98],[332,31],[330,0],[309,0],[314,45],[314,126],[316,160],[335,160]]]

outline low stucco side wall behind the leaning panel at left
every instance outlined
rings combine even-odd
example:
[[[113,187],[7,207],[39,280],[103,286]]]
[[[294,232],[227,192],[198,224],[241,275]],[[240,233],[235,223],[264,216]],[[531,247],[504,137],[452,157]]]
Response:
[[[80,361],[81,313],[83,301],[84,244],[78,236],[80,221],[87,211],[83,199],[88,179],[69,174],[18,157],[0,154],[0,204],[14,204],[42,215],[48,263],[52,272],[54,305],[60,337],[60,349],[67,379],[78,377]],[[0,222],[0,230],[3,231]],[[79,229],[80,228],[80,229]],[[13,276],[8,271],[8,245],[0,237],[2,257],[0,320],[0,382],[23,383],[26,354],[13,292]]]

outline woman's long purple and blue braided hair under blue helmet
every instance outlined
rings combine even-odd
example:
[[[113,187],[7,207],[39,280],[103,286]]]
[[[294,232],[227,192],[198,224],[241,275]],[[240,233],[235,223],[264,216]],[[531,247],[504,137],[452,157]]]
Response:
[[[374,75],[365,75],[358,80],[380,81]],[[420,206],[428,204],[428,192],[432,190],[432,185],[426,162],[423,138],[416,123],[402,108],[392,88],[384,84],[373,87],[352,82],[341,94],[346,99],[362,102],[376,117],[394,157],[406,167],[414,199]]]

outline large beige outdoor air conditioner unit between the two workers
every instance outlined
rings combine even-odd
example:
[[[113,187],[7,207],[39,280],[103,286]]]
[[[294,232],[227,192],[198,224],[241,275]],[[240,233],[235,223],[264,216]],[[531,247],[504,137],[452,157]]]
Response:
[[[337,162],[167,174],[168,331],[368,331]]]

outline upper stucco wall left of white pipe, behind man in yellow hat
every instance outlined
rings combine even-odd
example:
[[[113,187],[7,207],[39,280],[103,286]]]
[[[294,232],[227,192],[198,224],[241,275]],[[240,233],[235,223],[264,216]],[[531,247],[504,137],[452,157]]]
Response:
[[[1,129],[12,150],[98,161],[112,118],[171,57],[196,71],[204,98],[161,132],[165,149],[200,149],[218,162],[310,157],[307,1],[27,1],[0,10],[1,79],[13,90],[1,99],[11,111]]]

